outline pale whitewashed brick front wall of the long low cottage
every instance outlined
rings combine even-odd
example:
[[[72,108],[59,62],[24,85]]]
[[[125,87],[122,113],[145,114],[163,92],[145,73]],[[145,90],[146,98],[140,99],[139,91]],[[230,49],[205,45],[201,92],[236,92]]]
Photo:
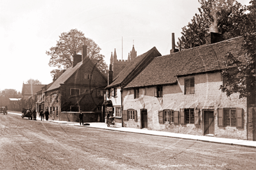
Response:
[[[194,77],[194,94],[184,95],[184,79]],[[246,135],[246,99],[239,99],[239,95],[231,95],[226,97],[225,93],[221,93],[219,86],[222,84],[221,74],[204,73],[194,76],[179,77],[178,84],[164,86],[163,97],[154,97],[154,88],[141,88],[140,98],[134,99],[133,89],[123,90],[123,110],[137,110],[138,121],[124,121],[126,127],[141,128],[141,109],[147,109],[148,112],[148,129],[161,130],[167,132],[176,132],[181,134],[203,135],[203,109],[214,110],[214,135],[216,137],[228,137],[234,139],[247,139]],[[218,127],[218,108],[243,108],[243,129],[236,127]],[[180,109],[198,108],[200,109],[200,125],[173,125],[159,124],[158,111],[164,109],[172,109],[180,111]]]

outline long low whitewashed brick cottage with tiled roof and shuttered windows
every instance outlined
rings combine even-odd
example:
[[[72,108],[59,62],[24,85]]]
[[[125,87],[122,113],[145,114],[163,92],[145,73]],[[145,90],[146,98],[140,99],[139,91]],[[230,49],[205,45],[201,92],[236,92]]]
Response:
[[[213,33],[210,37],[217,40]],[[123,126],[180,134],[248,139],[247,98],[226,97],[225,55],[243,57],[243,37],[154,58],[122,86]],[[124,79],[123,81],[126,81]],[[114,88],[114,86],[111,86]]]

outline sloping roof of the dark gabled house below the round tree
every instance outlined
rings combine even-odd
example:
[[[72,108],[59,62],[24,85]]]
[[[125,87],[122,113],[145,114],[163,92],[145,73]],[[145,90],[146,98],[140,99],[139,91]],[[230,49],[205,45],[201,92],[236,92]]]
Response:
[[[73,75],[83,64],[88,63],[88,62],[92,63],[92,61],[89,58],[87,58],[84,61],[77,63],[74,67],[71,66],[71,67],[67,68],[67,70],[65,70],[65,72],[62,73],[62,75],[60,75],[60,77],[58,77],[58,79],[56,79],[56,81],[53,82],[53,84],[49,88],[47,88],[47,91],[60,88],[60,84],[64,84],[64,82],[67,81],[67,79],[69,79],[69,77],[71,77],[71,75]],[[96,67],[96,70],[98,70],[97,67]],[[99,71],[99,73],[101,73],[101,72]],[[105,75],[103,75],[102,73],[101,73],[101,75],[107,81],[107,78],[105,77]]]

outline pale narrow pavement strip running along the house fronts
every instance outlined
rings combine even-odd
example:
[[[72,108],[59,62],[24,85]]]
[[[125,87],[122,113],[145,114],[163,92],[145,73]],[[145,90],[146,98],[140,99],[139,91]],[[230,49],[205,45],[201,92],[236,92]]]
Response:
[[[21,115],[21,113],[8,111],[8,114],[17,114]],[[40,118],[37,118],[40,121]],[[46,121],[46,120],[44,120]],[[256,141],[248,141],[248,140],[240,140],[240,139],[228,139],[222,137],[212,137],[212,136],[205,136],[205,135],[189,135],[189,134],[177,134],[171,132],[162,132],[157,130],[148,130],[146,128],[128,128],[128,127],[107,127],[106,123],[89,123],[90,125],[80,125],[78,122],[71,122],[71,121],[58,121],[58,120],[48,120],[48,122],[53,123],[62,123],[67,125],[79,126],[79,127],[89,127],[89,128],[101,128],[104,130],[115,130],[119,132],[129,132],[129,133],[136,133],[136,134],[146,134],[146,135],[157,135],[163,137],[175,137],[180,139],[189,139],[195,141],[204,141],[210,143],[222,143],[222,144],[232,144],[232,145],[239,145],[239,146],[247,146],[256,148]]]

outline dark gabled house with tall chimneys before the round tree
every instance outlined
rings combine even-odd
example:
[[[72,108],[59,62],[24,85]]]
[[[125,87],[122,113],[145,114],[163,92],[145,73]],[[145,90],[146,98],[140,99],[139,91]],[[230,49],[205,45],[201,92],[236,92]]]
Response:
[[[73,56],[73,66],[44,91],[44,107],[53,120],[78,121],[78,113],[82,111],[84,121],[102,121],[106,86],[107,77],[87,57],[87,46],[83,45],[82,55]]]

